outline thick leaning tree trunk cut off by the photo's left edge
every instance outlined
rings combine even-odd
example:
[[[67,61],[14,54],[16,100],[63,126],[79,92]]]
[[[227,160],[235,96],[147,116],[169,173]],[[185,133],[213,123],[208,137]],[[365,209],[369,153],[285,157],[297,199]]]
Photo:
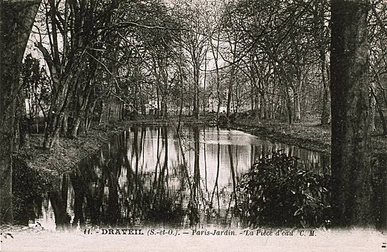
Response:
[[[40,1],[9,0],[0,4],[0,223],[12,223],[15,89]]]

